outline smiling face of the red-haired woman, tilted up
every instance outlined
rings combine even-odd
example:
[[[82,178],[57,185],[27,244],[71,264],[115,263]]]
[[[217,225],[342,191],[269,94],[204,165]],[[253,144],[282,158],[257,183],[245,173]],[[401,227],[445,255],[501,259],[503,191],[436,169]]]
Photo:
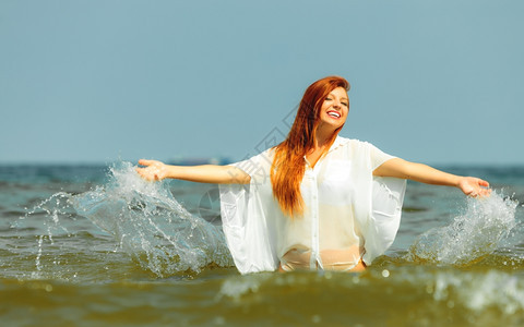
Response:
[[[319,128],[336,130],[346,122],[349,112],[349,99],[344,87],[337,87],[330,92],[320,108]]]

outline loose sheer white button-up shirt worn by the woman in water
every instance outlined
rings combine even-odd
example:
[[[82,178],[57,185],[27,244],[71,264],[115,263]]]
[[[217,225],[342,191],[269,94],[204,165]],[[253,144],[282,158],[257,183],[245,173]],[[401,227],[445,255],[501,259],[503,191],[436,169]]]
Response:
[[[234,164],[251,177],[249,185],[221,185],[223,229],[239,271],[275,270],[294,250],[310,255],[310,268],[324,268],[323,253],[332,250],[370,265],[393,243],[400,225],[405,181],[372,175],[391,158],[369,143],[336,137],[313,168],[305,158],[306,208],[294,218],[273,196],[273,149]]]

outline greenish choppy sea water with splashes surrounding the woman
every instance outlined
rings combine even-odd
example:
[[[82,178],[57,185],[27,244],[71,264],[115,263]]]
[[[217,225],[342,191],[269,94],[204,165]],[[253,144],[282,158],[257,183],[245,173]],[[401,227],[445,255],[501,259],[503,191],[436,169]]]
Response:
[[[361,274],[241,276],[216,185],[133,165],[0,168],[0,316],[19,326],[524,324],[524,169],[449,167],[487,198],[409,183],[390,251]]]

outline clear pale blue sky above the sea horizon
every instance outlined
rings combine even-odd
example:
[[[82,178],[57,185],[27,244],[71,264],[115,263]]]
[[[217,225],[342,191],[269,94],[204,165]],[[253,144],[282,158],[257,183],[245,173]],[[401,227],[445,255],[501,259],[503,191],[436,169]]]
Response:
[[[524,165],[523,17],[520,0],[0,0],[0,162],[242,159],[335,74],[342,136]]]

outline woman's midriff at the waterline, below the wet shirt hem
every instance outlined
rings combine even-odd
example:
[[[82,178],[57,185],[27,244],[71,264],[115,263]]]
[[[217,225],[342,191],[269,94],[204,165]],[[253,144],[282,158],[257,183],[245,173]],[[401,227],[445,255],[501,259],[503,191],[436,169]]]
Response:
[[[323,250],[320,252],[324,270],[358,272],[366,269],[358,249]],[[289,250],[281,259],[279,271],[310,270],[311,251]],[[317,263],[317,268],[319,264]]]

